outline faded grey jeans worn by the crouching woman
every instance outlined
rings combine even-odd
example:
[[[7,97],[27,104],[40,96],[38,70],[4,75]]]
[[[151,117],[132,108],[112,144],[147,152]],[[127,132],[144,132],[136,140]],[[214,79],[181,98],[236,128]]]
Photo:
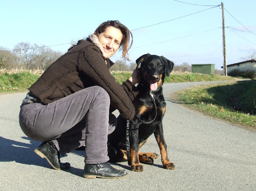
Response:
[[[108,134],[116,126],[109,105],[108,93],[93,86],[47,105],[22,105],[20,127],[33,140],[52,140],[62,156],[85,145],[84,162],[103,163],[109,160]]]

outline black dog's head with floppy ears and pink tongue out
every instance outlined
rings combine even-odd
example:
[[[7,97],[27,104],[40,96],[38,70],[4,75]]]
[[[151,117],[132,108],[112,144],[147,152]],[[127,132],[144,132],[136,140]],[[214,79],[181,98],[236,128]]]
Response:
[[[164,77],[170,76],[173,62],[164,56],[145,54],[137,60],[137,68],[140,65],[141,83],[155,91],[164,83]]]

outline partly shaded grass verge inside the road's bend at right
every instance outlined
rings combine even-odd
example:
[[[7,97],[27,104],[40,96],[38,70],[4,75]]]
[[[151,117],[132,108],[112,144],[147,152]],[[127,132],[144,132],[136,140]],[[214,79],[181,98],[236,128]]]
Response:
[[[175,92],[190,109],[232,123],[256,129],[256,80],[207,84]]]

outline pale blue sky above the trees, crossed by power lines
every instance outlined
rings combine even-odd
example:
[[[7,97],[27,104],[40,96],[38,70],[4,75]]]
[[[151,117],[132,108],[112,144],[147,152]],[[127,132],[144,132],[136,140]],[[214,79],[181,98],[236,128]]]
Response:
[[[174,0],[1,1],[0,46],[12,50],[19,42],[29,42],[52,46],[53,50],[65,53],[71,41],[87,37],[102,22],[119,20],[133,33],[131,62],[150,53],[163,55],[177,65],[210,63],[221,70],[221,6],[199,6],[220,5],[221,1],[180,1],[185,3]],[[256,51],[256,1],[223,3],[225,26],[229,27],[225,29],[227,64],[233,64]],[[120,56],[118,53],[110,59],[115,61]]]

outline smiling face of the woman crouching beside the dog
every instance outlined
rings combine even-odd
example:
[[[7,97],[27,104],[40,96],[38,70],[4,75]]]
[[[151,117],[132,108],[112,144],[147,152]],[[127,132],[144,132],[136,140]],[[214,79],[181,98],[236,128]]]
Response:
[[[98,38],[100,45],[103,47],[103,56],[109,58],[118,50],[123,34],[119,29],[109,26],[104,32],[99,34]]]

